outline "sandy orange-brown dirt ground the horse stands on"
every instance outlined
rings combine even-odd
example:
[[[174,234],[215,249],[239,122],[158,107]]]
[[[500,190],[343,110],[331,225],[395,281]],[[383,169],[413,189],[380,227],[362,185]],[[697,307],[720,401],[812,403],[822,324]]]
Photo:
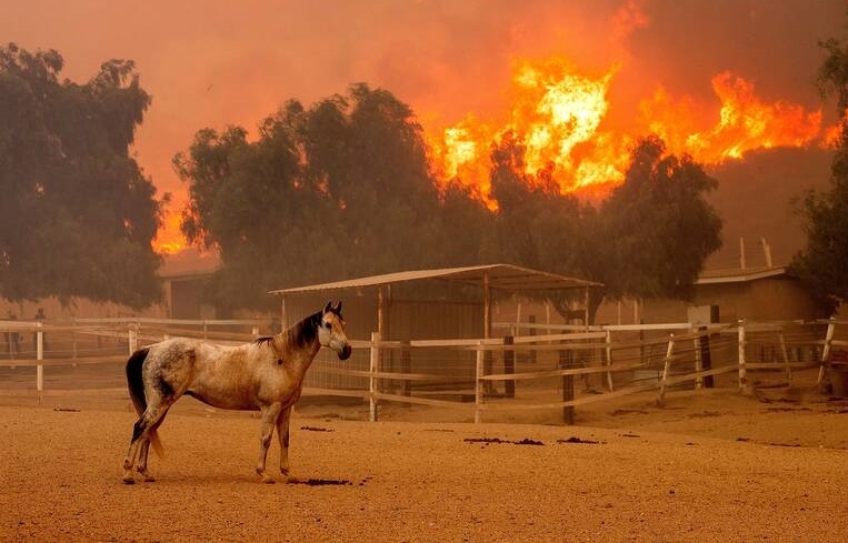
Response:
[[[259,421],[186,398],[167,456],[151,455],[158,481],[124,485],[126,391],[39,406],[0,386],[0,541],[845,541],[848,402],[807,388],[655,400],[593,404],[576,426],[303,404],[301,484],[263,485]]]

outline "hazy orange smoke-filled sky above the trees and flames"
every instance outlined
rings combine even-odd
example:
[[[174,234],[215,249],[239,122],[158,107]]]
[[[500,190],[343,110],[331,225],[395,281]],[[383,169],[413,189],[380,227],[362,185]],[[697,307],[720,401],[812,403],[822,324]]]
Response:
[[[609,125],[627,125],[662,88],[694,108],[718,100],[716,74],[756,84],[764,101],[821,110],[819,40],[841,37],[846,0],[30,0],[0,3],[0,41],[56,49],[62,77],[136,61],[153,101],[136,152],[160,194],[186,187],[171,159],[206,127],[252,129],[288,99],[309,105],[352,82],[409,103],[426,129],[468,114],[502,120],[522,59],[615,71]],[[702,112],[704,114],[710,112]],[[711,114],[711,113],[710,113]]]

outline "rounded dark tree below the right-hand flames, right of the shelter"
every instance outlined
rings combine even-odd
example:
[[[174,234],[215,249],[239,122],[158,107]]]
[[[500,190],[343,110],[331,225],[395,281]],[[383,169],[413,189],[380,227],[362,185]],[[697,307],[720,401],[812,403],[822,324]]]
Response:
[[[609,257],[598,280],[608,299],[691,299],[707,257],[721,247],[721,219],[704,198],[716,187],[691,157],[667,154],[659,138],[638,142],[625,182],[600,207]]]

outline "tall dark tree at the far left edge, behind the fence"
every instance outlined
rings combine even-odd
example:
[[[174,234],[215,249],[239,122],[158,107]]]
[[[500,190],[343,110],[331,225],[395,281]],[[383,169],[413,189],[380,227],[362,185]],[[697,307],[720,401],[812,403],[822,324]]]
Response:
[[[54,50],[0,48],[0,295],[147,305],[162,202],[129,150],[150,95],[132,61],[82,86],[62,67]]]

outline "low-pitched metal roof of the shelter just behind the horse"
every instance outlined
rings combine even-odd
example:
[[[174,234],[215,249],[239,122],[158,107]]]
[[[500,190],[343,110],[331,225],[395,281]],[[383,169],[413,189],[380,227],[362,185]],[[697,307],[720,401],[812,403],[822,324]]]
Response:
[[[295,294],[300,292],[318,292],[335,289],[358,289],[362,286],[378,286],[381,284],[401,283],[406,281],[420,281],[425,279],[440,279],[455,281],[470,285],[482,285],[485,276],[489,278],[491,289],[506,291],[530,290],[559,290],[582,289],[587,286],[600,286],[601,283],[569,278],[556,273],[530,270],[512,264],[471,265],[466,268],[442,268],[437,270],[413,270],[368,278],[349,279],[332,283],[310,284],[292,289],[271,291],[271,294]]]

